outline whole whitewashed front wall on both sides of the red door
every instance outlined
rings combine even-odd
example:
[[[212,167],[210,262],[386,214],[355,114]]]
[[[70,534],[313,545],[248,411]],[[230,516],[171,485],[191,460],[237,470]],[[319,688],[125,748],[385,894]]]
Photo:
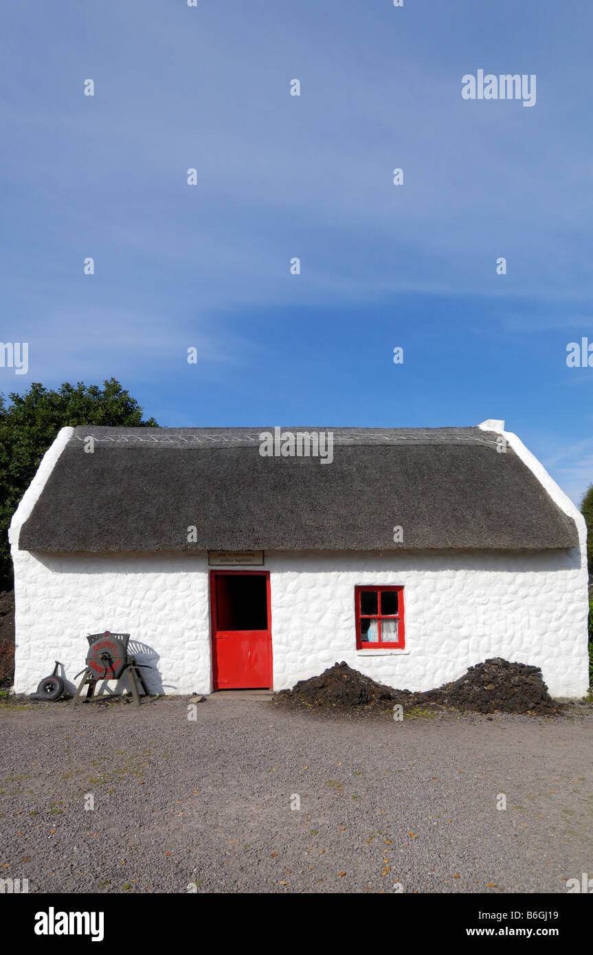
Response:
[[[84,666],[85,635],[130,631],[154,651],[151,690],[212,689],[205,554],[34,555],[13,545],[15,690],[61,660]],[[540,666],[550,692],[588,685],[586,570],[580,550],[536,555],[432,552],[266,553],[274,689],[336,661],[373,679],[429,690],[492,656]],[[354,585],[403,584],[406,649],[355,648]],[[150,662],[150,652],[138,659]],[[116,684],[109,686],[115,689]]]

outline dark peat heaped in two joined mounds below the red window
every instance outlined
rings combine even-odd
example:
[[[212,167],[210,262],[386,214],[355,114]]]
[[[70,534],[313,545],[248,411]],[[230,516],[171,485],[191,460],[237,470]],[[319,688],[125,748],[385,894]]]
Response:
[[[561,711],[548,693],[539,667],[509,663],[495,657],[470,667],[453,683],[437,690],[413,693],[375,683],[348,664],[335,663],[320,676],[301,680],[292,690],[281,690],[274,702],[294,706],[334,707],[342,710],[387,710],[394,704],[404,712],[415,707],[443,707],[480,713],[512,712],[554,716]]]

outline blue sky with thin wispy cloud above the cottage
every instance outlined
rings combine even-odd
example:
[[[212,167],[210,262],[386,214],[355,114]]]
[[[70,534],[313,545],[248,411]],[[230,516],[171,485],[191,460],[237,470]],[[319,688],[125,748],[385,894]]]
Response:
[[[0,337],[30,343],[1,391],[113,375],[178,427],[504,418],[580,499],[593,9],[4,0],[0,27]],[[536,105],[464,100],[478,69]]]

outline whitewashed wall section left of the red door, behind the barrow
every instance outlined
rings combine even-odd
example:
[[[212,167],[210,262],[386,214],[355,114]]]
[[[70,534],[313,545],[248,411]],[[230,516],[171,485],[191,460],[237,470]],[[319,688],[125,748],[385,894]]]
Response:
[[[205,557],[183,554],[62,556],[14,551],[14,690],[35,690],[53,660],[66,676],[84,668],[87,633],[130,633],[149,690],[211,691]],[[77,681],[76,681],[77,682]],[[121,690],[127,679],[120,681]],[[108,684],[116,689],[112,681]]]

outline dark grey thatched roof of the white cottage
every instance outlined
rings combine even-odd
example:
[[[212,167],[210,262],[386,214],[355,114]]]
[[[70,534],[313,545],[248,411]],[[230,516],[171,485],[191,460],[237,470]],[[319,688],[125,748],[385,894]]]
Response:
[[[550,549],[573,520],[478,428],[311,429],[333,461],[261,456],[273,428],[75,428],[21,530],[34,551]],[[84,451],[87,435],[95,452]],[[187,541],[188,527],[197,541]],[[403,542],[393,542],[393,527]]]

